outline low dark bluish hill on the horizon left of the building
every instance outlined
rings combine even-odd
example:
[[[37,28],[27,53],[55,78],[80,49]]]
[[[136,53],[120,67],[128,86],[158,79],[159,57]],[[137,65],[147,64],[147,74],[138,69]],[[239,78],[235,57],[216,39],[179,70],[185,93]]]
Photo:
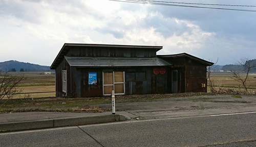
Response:
[[[51,71],[51,69],[50,66],[10,60],[0,62],[0,71]]]

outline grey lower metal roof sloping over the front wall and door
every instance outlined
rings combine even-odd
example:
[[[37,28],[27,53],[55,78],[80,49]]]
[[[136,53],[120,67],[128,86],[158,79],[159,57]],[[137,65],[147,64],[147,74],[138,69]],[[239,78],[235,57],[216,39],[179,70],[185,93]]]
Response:
[[[131,67],[172,65],[161,58],[112,58],[112,57],[67,57],[70,66],[75,67]]]

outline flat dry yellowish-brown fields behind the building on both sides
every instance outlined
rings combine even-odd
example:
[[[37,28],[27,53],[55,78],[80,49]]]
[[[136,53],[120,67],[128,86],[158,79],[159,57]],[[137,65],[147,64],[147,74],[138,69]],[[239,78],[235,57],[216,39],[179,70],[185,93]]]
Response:
[[[19,84],[22,93],[13,98],[35,98],[35,97],[54,97],[55,96],[55,75],[45,75],[45,72],[9,72],[15,76],[24,76],[25,80]],[[245,74],[243,74],[245,76]],[[238,81],[234,80],[231,73],[211,73],[211,80],[216,87],[243,89]],[[250,74],[247,81],[249,90],[256,90],[256,74]],[[208,85],[209,86],[209,85]],[[209,92],[208,88],[208,92]]]

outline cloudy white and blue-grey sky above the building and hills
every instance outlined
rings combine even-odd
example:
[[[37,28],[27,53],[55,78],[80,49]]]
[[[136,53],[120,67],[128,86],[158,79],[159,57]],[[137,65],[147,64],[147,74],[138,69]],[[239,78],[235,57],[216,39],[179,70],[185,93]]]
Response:
[[[168,2],[256,6],[255,0]],[[226,65],[256,58],[256,12],[108,0],[1,0],[0,40],[0,62],[50,66],[64,43],[97,43],[162,45],[157,55],[187,53]]]

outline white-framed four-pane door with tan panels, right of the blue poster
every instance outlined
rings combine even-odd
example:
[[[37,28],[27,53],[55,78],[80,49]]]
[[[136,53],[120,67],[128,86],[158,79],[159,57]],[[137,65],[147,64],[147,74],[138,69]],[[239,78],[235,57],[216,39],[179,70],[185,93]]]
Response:
[[[117,95],[124,94],[123,71],[103,72],[103,95],[111,95],[112,90]]]

